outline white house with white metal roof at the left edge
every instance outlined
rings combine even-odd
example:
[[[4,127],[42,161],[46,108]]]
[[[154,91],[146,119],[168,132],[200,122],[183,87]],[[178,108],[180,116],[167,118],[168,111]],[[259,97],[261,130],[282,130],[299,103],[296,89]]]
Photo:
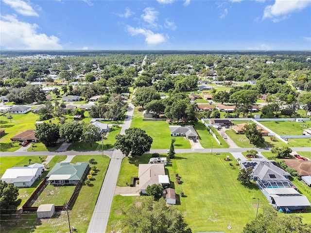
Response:
[[[6,169],[1,181],[13,183],[16,187],[30,187],[41,175],[44,165],[14,166]]]

